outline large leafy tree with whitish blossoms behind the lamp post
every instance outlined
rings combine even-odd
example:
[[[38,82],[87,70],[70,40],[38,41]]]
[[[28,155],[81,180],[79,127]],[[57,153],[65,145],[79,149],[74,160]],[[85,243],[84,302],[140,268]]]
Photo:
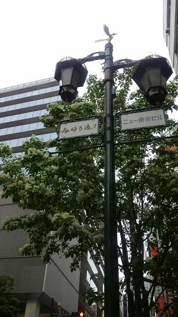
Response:
[[[139,90],[130,93],[131,73],[132,69],[127,69],[115,75],[115,112],[150,106]],[[165,101],[165,108],[175,112],[176,81],[169,83]],[[49,104],[47,110],[42,122],[56,129],[59,120],[104,115],[103,82],[89,76],[87,93],[82,98],[71,104]],[[178,296],[178,151],[173,151],[178,147],[174,138],[178,127],[173,120],[169,123],[169,128],[123,134],[151,138],[170,133],[172,139],[122,144],[115,151],[119,270],[124,276],[120,284],[127,293],[129,317],[148,317],[151,309],[158,310],[153,296],[157,285],[174,289]],[[80,142],[80,138],[58,143],[51,140],[47,146],[64,151]],[[23,255],[43,254],[44,261],[49,262],[54,252],[64,253],[73,259],[71,270],[75,270],[83,253],[92,249],[99,262],[100,257],[104,258],[103,149],[54,156],[34,136],[24,143],[23,152],[22,157],[15,158],[7,146],[0,146],[4,162],[0,185],[2,197],[11,196],[19,207],[32,209],[33,213],[6,220],[4,228],[28,232],[30,242],[21,249]],[[74,238],[77,244],[71,243]],[[157,248],[157,252],[148,262],[145,250],[150,248]],[[148,273],[153,280],[149,278],[151,283],[146,287]],[[90,296],[93,301],[95,295]]]

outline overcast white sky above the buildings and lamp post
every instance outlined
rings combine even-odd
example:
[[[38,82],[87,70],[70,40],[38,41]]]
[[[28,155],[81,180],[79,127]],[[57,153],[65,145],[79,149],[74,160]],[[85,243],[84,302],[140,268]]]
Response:
[[[118,33],[114,60],[169,57],[163,0],[0,0],[0,88],[52,77],[62,57],[104,51],[106,42],[94,42],[104,23]],[[100,61],[87,68],[101,74]]]

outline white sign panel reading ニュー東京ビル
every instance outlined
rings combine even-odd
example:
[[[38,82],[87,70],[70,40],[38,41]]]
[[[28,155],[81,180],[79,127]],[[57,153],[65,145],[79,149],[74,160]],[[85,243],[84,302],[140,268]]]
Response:
[[[163,109],[121,114],[121,130],[151,128],[166,125]]]

